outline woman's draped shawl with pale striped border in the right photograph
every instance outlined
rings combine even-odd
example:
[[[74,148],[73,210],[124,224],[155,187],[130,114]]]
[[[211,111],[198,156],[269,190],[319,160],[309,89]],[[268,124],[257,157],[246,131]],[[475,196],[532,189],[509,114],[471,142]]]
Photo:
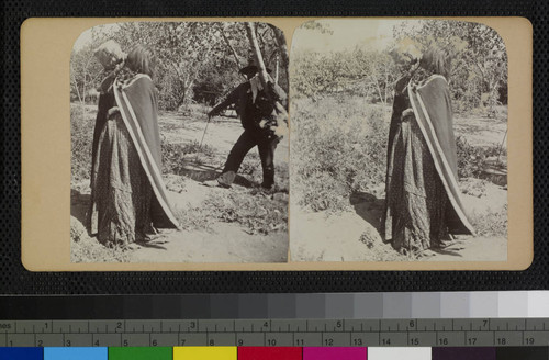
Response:
[[[421,87],[408,86],[415,119],[452,205],[448,228],[452,234],[473,234],[458,187],[458,159],[453,136],[450,90],[442,76],[433,76]]]

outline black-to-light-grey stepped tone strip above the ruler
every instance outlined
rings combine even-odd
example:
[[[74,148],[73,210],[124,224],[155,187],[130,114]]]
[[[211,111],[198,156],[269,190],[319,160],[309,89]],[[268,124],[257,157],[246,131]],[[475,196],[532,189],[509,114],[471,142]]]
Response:
[[[547,304],[549,291],[0,296],[0,318],[549,317]]]

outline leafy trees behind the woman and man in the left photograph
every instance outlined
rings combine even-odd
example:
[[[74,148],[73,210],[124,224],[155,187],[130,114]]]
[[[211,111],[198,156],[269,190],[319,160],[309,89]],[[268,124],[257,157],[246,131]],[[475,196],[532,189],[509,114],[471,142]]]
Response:
[[[256,27],[267,66],[276,67],[278,57],[288,59],[285,42],[283,46],[279,45],[283,34],[265,23],[257,23]],[[126,52],[136,44],[154,49],[157,55],[155,83],[159,91],[159,106],[165,110],[177,110],[193,101],[219,100],[243,81],[238,70],[249,55],[249,43],[242,23],[127,22],[96,26],[90,49],[109,38],[119,42]],[[74,58],[71,83],[76,86],[86,80],[81,65],[76,68],[76,64],[85,60],[92,64],[93,56],[92,52],[82,48],[75,52]],[[101,69],[94,67],[89,80],[97,82],[100,72]],[[279,85],[288,91],[284,66],[279,77]],[[74,89],[76,93],[77,88]]]

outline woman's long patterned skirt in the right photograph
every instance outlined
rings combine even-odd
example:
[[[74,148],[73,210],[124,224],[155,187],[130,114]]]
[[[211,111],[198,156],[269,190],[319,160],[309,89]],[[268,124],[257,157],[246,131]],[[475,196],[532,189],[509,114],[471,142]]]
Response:
[[[450,203],[415,117],[396,128],[388,164],[385,240],[403,254],[450,241]]]

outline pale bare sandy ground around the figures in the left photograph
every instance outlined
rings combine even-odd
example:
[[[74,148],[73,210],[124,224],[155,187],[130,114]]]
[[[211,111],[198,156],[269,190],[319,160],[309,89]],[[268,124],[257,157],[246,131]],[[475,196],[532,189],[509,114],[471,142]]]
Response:
[[[169,144],[200,142],[205,128],[205,119],[191,119],[176,113],[165,113],[159,119],[161,134]],[[285,226],[272,224],[267,234],[257,233],[238,222],[220,220],[209,213],[208,200],[229,202],[243,199],[251,203],[265,199],[254,190],[254,177],[239,178],[233,189],[208,188],[203,181],[215,179],[224,159],[242,133],[237,119],[216,117],[208,126],[204,147],[214,154],[187,154],[182,173],[167,175],[165,181],[168,196],[176,212],[183,213],[188,224],[181,230],[161,230],[153,240],[133,244],[125,249],[108,249],[96,238],[90,238],[83,227],[89,202],[89,181],[72,183],[71,191],[71,259],[72,261],[122,261],[122,262],[283,262],[288,258],[288,232]],[[254,148],[250,154],[257,154]],[[250,157],[248,154],[248,157]],[[253,156],[251,156],[253,157]],[[181,159],[183,160],[183,158]],[[193,161],[197,160],[197,161]],[[279,167],[288,166],[288,142],[279,144],[276,154]],[[259,164],[255,164],[259,165]],[[257,169],[260,171],[260,169]],[[231,198],[229,194],[237,198]],[[261,198],[262,196],[262,198]],[[273,200],[284,203],[288,195],[274,194]],[[283,214],[282,214],[283,215]],[[281,216],[282,216],[281,215]]]

